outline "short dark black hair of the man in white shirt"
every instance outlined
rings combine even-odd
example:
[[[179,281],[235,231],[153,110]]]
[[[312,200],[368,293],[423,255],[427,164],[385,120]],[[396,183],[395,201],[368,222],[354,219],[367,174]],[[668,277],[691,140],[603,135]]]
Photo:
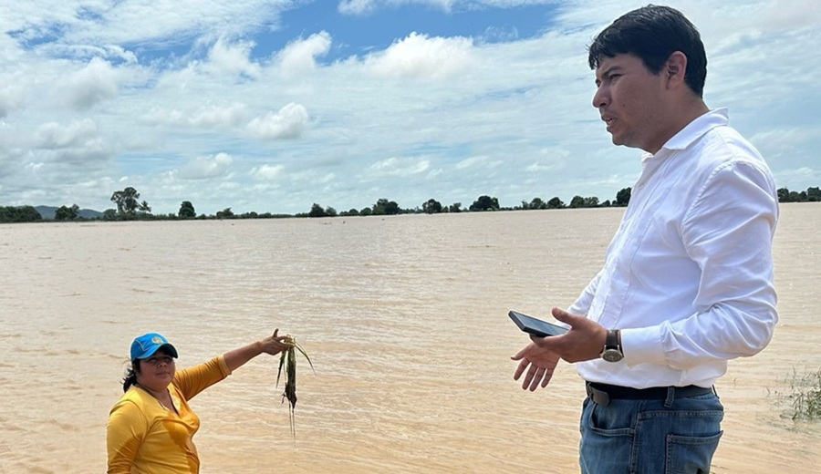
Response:
[[[593,38],[587,63],[597,69],[602,57],[630,54],[639,57],[655,75],[676,51],[687,57],[684,82],[703,97],[707,54],[699,30],[680,11],[669,6],[647,5],[620,16]]]

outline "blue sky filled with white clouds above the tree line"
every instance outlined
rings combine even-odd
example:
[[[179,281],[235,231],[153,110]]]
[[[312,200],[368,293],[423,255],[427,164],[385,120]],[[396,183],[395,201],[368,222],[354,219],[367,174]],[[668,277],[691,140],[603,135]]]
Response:
[[[0,205],[338,211],[612,200],[639,150],[590,105],[590,39],[647,2],[0,0]],[[681,0],[705,99],[779,187],[821,186],[821,2]]]

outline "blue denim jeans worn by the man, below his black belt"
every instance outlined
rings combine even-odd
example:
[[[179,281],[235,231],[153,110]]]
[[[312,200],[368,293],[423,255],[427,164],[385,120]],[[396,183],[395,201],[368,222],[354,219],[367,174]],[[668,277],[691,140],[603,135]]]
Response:
[[[660,400],[585,399],[582,474],[709,474],[724,407],[714,393]]]

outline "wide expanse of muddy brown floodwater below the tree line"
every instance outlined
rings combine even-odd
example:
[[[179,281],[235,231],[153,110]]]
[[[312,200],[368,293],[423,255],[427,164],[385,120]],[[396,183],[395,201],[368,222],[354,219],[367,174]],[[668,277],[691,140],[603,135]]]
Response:
[[[506,314],[572,302],[621,212],[0,226],[0,473],[105,470],[135,335],[167,335],[187,366],[275,327],[317,369],[298,367],[296,440],[261,356],[192,401],[203,473],[577,472],[581,383],[565,365],[522,391]],[[821,462],[821,428],[774,395],[821,366],[821,206],[782,212],[782,319],[719,382],[716,473]]]

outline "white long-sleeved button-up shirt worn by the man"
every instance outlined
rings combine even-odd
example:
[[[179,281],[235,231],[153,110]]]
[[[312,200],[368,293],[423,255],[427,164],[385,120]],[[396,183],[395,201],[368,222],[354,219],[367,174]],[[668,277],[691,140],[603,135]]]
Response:
[[[624,359],[577,364],[589,382],[712,386],[727,360],[769,343],[778,199],[726,109],[642,158],[602,270],[568,311],[620,329]]]

